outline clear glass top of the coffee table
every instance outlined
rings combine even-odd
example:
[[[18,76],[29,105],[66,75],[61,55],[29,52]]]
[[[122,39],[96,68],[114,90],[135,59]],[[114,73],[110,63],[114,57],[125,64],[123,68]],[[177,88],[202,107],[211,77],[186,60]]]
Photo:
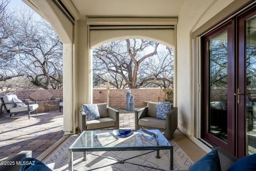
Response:
[[[120,138],[113,130],[84,131],[69,149],[106,148],[170,148],[172,145],[158,129],[134,130],[129,137]]]

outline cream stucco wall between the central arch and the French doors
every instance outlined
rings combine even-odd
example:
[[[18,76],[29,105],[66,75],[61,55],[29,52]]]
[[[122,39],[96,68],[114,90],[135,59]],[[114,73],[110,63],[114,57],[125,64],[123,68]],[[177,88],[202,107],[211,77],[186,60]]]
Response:
[[[186,0],[177,25],[177,105],[178,127],[193,135],[193,55],[191,32],[234,0]]]

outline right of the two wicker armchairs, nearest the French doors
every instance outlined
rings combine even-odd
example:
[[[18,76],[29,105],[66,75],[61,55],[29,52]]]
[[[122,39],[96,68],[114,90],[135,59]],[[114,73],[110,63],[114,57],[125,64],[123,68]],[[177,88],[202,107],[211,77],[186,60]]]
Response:
[[[135,129],[157,128],[164,132],[167,139],[172,139],[172,135],[178,127],[178,108],[171,108],[167,112],[166,120],[156,118],[157,103],[148,103],[148,106],[135,111]]]

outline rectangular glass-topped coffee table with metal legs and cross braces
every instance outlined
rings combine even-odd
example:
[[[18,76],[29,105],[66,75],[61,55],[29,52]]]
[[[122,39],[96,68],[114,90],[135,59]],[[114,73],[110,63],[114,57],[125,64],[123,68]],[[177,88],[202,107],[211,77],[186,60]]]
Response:
[[[93,151],[140,151],[147,150],[143,154],[123,160],[99,156],[92,153]],[[154,168],[145,165],[134,164],[129,159],[140,157],[145,154],[156,152],[156,158],[161,158],[159,150],[170,150],[169,153],[169,169],[173,170],[173,146],[167,141],[165,136],[158,129],[138,129],[134,130],[129,137],[119,138],[113,134],[113,130],[93,130],[84,131],[76,141],[69,147],[69,171],[73,170],[73,152],[84,152],[83,160],[86,160],[86,153],[92,154],[102,158],[115,160],[113,164],[102,167],[107,167],[115,164],[124,164],[125,162],[132,165],[142,166],[151,169],[165,170],[161,168]],[[92,168],[89,170],[100,169],[102,167]]]

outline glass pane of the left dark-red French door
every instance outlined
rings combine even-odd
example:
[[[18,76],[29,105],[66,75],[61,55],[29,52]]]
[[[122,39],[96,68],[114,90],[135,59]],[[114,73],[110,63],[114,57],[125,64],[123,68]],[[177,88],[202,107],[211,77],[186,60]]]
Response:
[[[210,39],[208,132],[227,142],[228,33]]]

